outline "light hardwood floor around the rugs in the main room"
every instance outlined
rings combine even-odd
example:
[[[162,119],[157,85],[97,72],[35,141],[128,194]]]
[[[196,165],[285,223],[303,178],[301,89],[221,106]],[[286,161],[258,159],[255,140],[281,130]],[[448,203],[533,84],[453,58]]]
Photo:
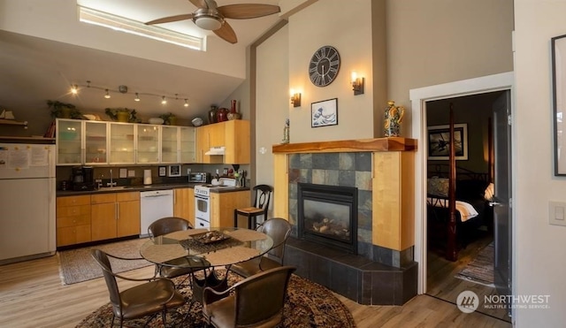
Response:
[[[125,275],[145,278],[152,274],[153,267],[149,266]],[[337,296],[348,306],[359,328],[510,326],[479,313],[464,314],[454,304],[428,295],[419,295],[402,307],[363,306]],[[62,286],[57,256],[0,266],[0,327],[74,327],[108,301],[103,278]]]

